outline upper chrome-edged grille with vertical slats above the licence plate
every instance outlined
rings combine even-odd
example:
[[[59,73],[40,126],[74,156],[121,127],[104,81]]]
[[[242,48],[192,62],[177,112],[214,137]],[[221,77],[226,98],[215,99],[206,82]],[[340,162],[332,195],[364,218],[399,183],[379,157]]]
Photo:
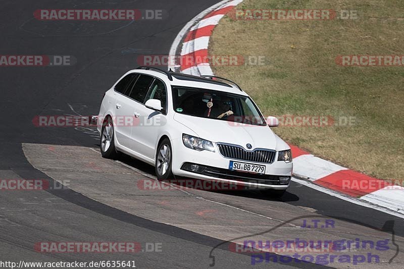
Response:
[[[275,160],[276,151],[270,149],[255,149],[246,151],[241,146],[217,143],[220,154],[226,158],[246,160],[247,162],[256,162],[272,164]]]

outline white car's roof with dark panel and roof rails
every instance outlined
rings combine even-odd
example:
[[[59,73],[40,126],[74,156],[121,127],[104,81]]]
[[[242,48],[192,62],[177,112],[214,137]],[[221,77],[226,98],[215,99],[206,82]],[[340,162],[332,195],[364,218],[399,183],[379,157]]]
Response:
[[[214,79],[209,79],[209,78],[204,78],[204,77],[198,77],[198,76],[192,76],[192,75],[187,75],[183,73],[177,73],[177,72],[171,72],[171,71],[163,71],[163,70],[155,70],[155,69],[133,69],[129,71],[128,73],[142,73],[142,74],[147,74],[147,75],[153,75],[155,77],[158,77],[160,79],[163,79],[166,82],[169,82],[171,86],[183,86],[183,87],[192,87],[192,88],[201,88],[201,89],[210,89],[210,90],[218,90],[218,91],[224,91],[228,93],[233,93],[233,94],[239,94],[239,95],[246,95],[243,90],[241,90],[239,87],[235,85],[232,85],[231,83],[226,83],[223,81],[219,80],[214,80]],[[171,79],[170,76],[171,75]],[[231,81],[229,81],[231,82]]]

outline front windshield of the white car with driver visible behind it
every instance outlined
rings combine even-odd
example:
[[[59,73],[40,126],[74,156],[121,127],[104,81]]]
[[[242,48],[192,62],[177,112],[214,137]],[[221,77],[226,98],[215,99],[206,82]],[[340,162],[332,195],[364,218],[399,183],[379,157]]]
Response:
[[[173,106],[175,112],[184,115],[259,126],[267,125],[248,96],[174,86]]]

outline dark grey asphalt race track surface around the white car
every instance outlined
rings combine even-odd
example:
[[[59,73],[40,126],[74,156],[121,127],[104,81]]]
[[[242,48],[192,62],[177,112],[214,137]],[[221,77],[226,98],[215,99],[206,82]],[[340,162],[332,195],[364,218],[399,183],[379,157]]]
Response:
[[[237,237],[269,235],[391,238],[404,247],[404,221],[297,183],[280,199],[255,191],[139,190],[154,169],[123,156],[103,159],[91,128],[35,127],[38,115],[94,115],[104,92],[136,57],[167,55],[181,28],[218,1],[0,1],[3,55],[68,55],[73,66],[1,67],[0,179],[45,179],[62,190],[0,190],[2,261],[134,260],[137,268],[324,267],[314,263],[257,263],[222,244]],[[43,22],[37,9],[159,9],[164,20]],[[306,216],[306,217],[305,217]],[[333,219],[336,230],[296,229],[294,218]],[[387,223],[387,224],[386,224]],[[275,232],[271,228],[279,227]],[[287,225],[286,225],[287,224]],[[388,228],[389,227],[389,228]],[[138,253],[41,253],[37,242],[159,243],[162,251]],[[213,254],[212,254],[213,253]],[[404,255],[384,253],[374,267],[402,268]],[[343,267],[343,264],[329,264]],[[345,265],[346,266],[346,265]],[[369,267],[359,264],[351,267]]]

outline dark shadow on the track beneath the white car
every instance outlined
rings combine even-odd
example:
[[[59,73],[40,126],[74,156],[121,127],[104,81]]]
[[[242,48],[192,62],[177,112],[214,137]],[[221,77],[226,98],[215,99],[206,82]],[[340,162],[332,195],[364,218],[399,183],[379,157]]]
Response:
[[[119,158],[120,162],[131,166],[135,169],[142,171],[143,173],[147,173],[153,176],[156,176],[155,168],[150,166],[140,160],[134,159],[129,155],[122,154]],[[176,179],[185,179],[185,178],[176,178]],[[174,183],[175,184],[175,183]],[[177,184],[178,185],[178,184]],[[181,187],[180,185],[178,185]],[[196,189],[196,188],[195,188]],[[198,190],[201,190],[198,188]],[[232,195],[232,196],[239,196],[245,198],[254,198],[254,199],[261,199],[261,200],[270,200],[270,201],[281,201],[281,202],[291,202],[291,201],[298,201],[299,197],[293,193],[286,191],[281,197],[271,197],[269,195],[265,195],[258,190],[201,190],[207,192],[215,192],[221,193],[223,195]]]

